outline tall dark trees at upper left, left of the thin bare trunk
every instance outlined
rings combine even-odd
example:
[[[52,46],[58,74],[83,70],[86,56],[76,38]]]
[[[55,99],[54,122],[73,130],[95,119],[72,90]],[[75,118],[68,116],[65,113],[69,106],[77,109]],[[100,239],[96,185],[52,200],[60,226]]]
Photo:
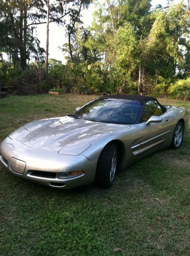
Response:
[[[0,50],[6,52],[15,66],[26,68],[31,55],[43,56],[34,24],[45,18],[44,0],[9,0],[0,2]],[[38,12],[36,12],[38,9]]]

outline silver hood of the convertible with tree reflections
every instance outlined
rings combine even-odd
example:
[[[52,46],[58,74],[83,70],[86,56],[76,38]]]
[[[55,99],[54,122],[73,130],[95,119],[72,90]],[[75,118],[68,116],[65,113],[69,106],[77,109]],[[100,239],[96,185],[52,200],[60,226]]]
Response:
[[[112,133],[118,129],[123,130],[128,126],[66,116],[34,121],[21,128],[24,132],[15,131],[15,133],[18,134],[16,139],[29,147],[58,152],[68,144],[78,144],[78,142],[88,144],[103,134]],[[11,136],[15,138],[14,133],[9,137]]]

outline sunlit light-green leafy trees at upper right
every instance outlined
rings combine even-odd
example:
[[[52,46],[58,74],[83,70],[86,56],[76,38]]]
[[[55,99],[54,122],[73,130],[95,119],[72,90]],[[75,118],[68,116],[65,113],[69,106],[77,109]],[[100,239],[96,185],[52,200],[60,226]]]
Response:
[[[188,75],[190,15],[182,3],[151,11],[146,0],[107,2],[111,5],[100,6],[94,14],[88,41],[97,45],[119,91],[130,82],[137,84],[140,69],[144,94],[154,93],[157,77]]]

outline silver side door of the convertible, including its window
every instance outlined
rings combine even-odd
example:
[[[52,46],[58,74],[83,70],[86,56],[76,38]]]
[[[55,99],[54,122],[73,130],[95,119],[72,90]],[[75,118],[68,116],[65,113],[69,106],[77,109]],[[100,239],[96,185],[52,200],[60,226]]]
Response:
[[[146,121],[151,116],[162,117],[161,122],[151,122],[148,125]],[[140,157],[148,155],[167,144],[172,134],[170,120],[155,100],[146,102],[142,113],[141,123],[139,124],[140,139],[138,145],[138,153]]]

